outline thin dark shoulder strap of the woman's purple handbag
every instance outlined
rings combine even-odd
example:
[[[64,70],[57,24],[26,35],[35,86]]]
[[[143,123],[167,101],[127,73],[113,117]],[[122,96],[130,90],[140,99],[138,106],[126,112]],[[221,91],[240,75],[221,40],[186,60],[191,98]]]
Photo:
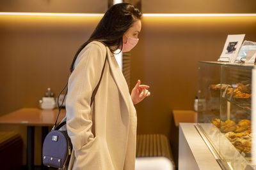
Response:
[[[95,100],[95,96],[96,96],[96,94],[97,94],[97,91],[98,91],[98,89],[99,89],[100,81],[102,80],[102,76],[103,76],[104,69],[105,69],[105,66],[106,66],[107,58],[108,58],[108,50],[106,51],[106,59],[105,59],[105,61],[104,61],[104,66],[103,66],[102,71],[101,71],[101,74],[100,74],[100,80],[99,80],[97,86],[95,87],[95,89],[94,89],[93,92],[92,92],[92,97],[91,97],[90,106],[92,106],[93,101]],[[65,85],[65,87],[61,90],[61,92],[63,92],[63,90],[67,87],[67,85],[68,85],[68,82],[67,82],[67,84]],[[64,95],[64,97],[63,97],[63,101],[65,100],[65,97],[67,96],[67,91],[68,91],[68,89],[67,89],[66,92],[65,92],[65,95]],[[61,94],[61,92],[60,92],[60,94]],[[59,101],[59,97],[60,97],[60,95],[58,96],[57,101]],[[62,108],[62,105],[63,105],[63,101],[62,101],[62,103],[61,103],[61,106],[58,106],[58,108],[59,108],[58,117],[56,118],[56,121],[55,121],[55,123],[54,123],[54,125],[53,125],[51,131],[59,130],[63,125],[65,125],[65,124],[67,123],[67,121],[63,121],[63,122],[61,122],[60,124],[58,124],[58,126],[55,128],[55,126],[56,126],[56,124],[57,124],[57,121],[58,121],[58,118],[59,118],[59,116],[60,116],[60,111],[61,111],[61,108]],[[58,103],[58,102],[57,102],[57,103]]]

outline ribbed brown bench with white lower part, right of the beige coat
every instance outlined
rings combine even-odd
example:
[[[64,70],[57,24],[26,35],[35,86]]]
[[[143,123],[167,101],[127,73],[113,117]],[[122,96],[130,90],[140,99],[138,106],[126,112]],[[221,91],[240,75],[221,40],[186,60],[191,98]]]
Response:
[[[170,143],[163,134],[139,134],[136,142],[136,170],[172,170]]]

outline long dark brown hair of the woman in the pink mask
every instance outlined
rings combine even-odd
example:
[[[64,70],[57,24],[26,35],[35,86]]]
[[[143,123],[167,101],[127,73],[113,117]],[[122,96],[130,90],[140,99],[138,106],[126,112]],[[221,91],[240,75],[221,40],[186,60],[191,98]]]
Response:
[[[131,27],[136,19],[141,19],[141,12],[129,3],[119,3],[111,6],[100,20],[92,35],[80,48],[70,67],[73,71],[77,56],[83,48],[92,41],[100,41],[109,47],[111,52],[115,52],[118,47],[123,48],[123,35]]]

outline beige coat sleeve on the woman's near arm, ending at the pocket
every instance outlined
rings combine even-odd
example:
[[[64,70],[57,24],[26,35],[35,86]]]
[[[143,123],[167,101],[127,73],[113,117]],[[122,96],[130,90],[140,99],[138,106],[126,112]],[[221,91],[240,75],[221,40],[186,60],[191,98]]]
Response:
[[[79,54],[75,69],[68,79],[66,117],[68,136],[74,150],[81,150],[93,139],[91,97],[100,79],[106,57],[106,47],[88,44]]]

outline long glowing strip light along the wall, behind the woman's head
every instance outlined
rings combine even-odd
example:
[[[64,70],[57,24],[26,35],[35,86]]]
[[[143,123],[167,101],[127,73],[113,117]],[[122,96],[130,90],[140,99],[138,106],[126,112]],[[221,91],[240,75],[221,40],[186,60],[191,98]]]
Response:
[[[103,17],[104,13],[26,13],[0,12],[0,15]],[[256,17],[256,13],[144,13],[144,17]]]

